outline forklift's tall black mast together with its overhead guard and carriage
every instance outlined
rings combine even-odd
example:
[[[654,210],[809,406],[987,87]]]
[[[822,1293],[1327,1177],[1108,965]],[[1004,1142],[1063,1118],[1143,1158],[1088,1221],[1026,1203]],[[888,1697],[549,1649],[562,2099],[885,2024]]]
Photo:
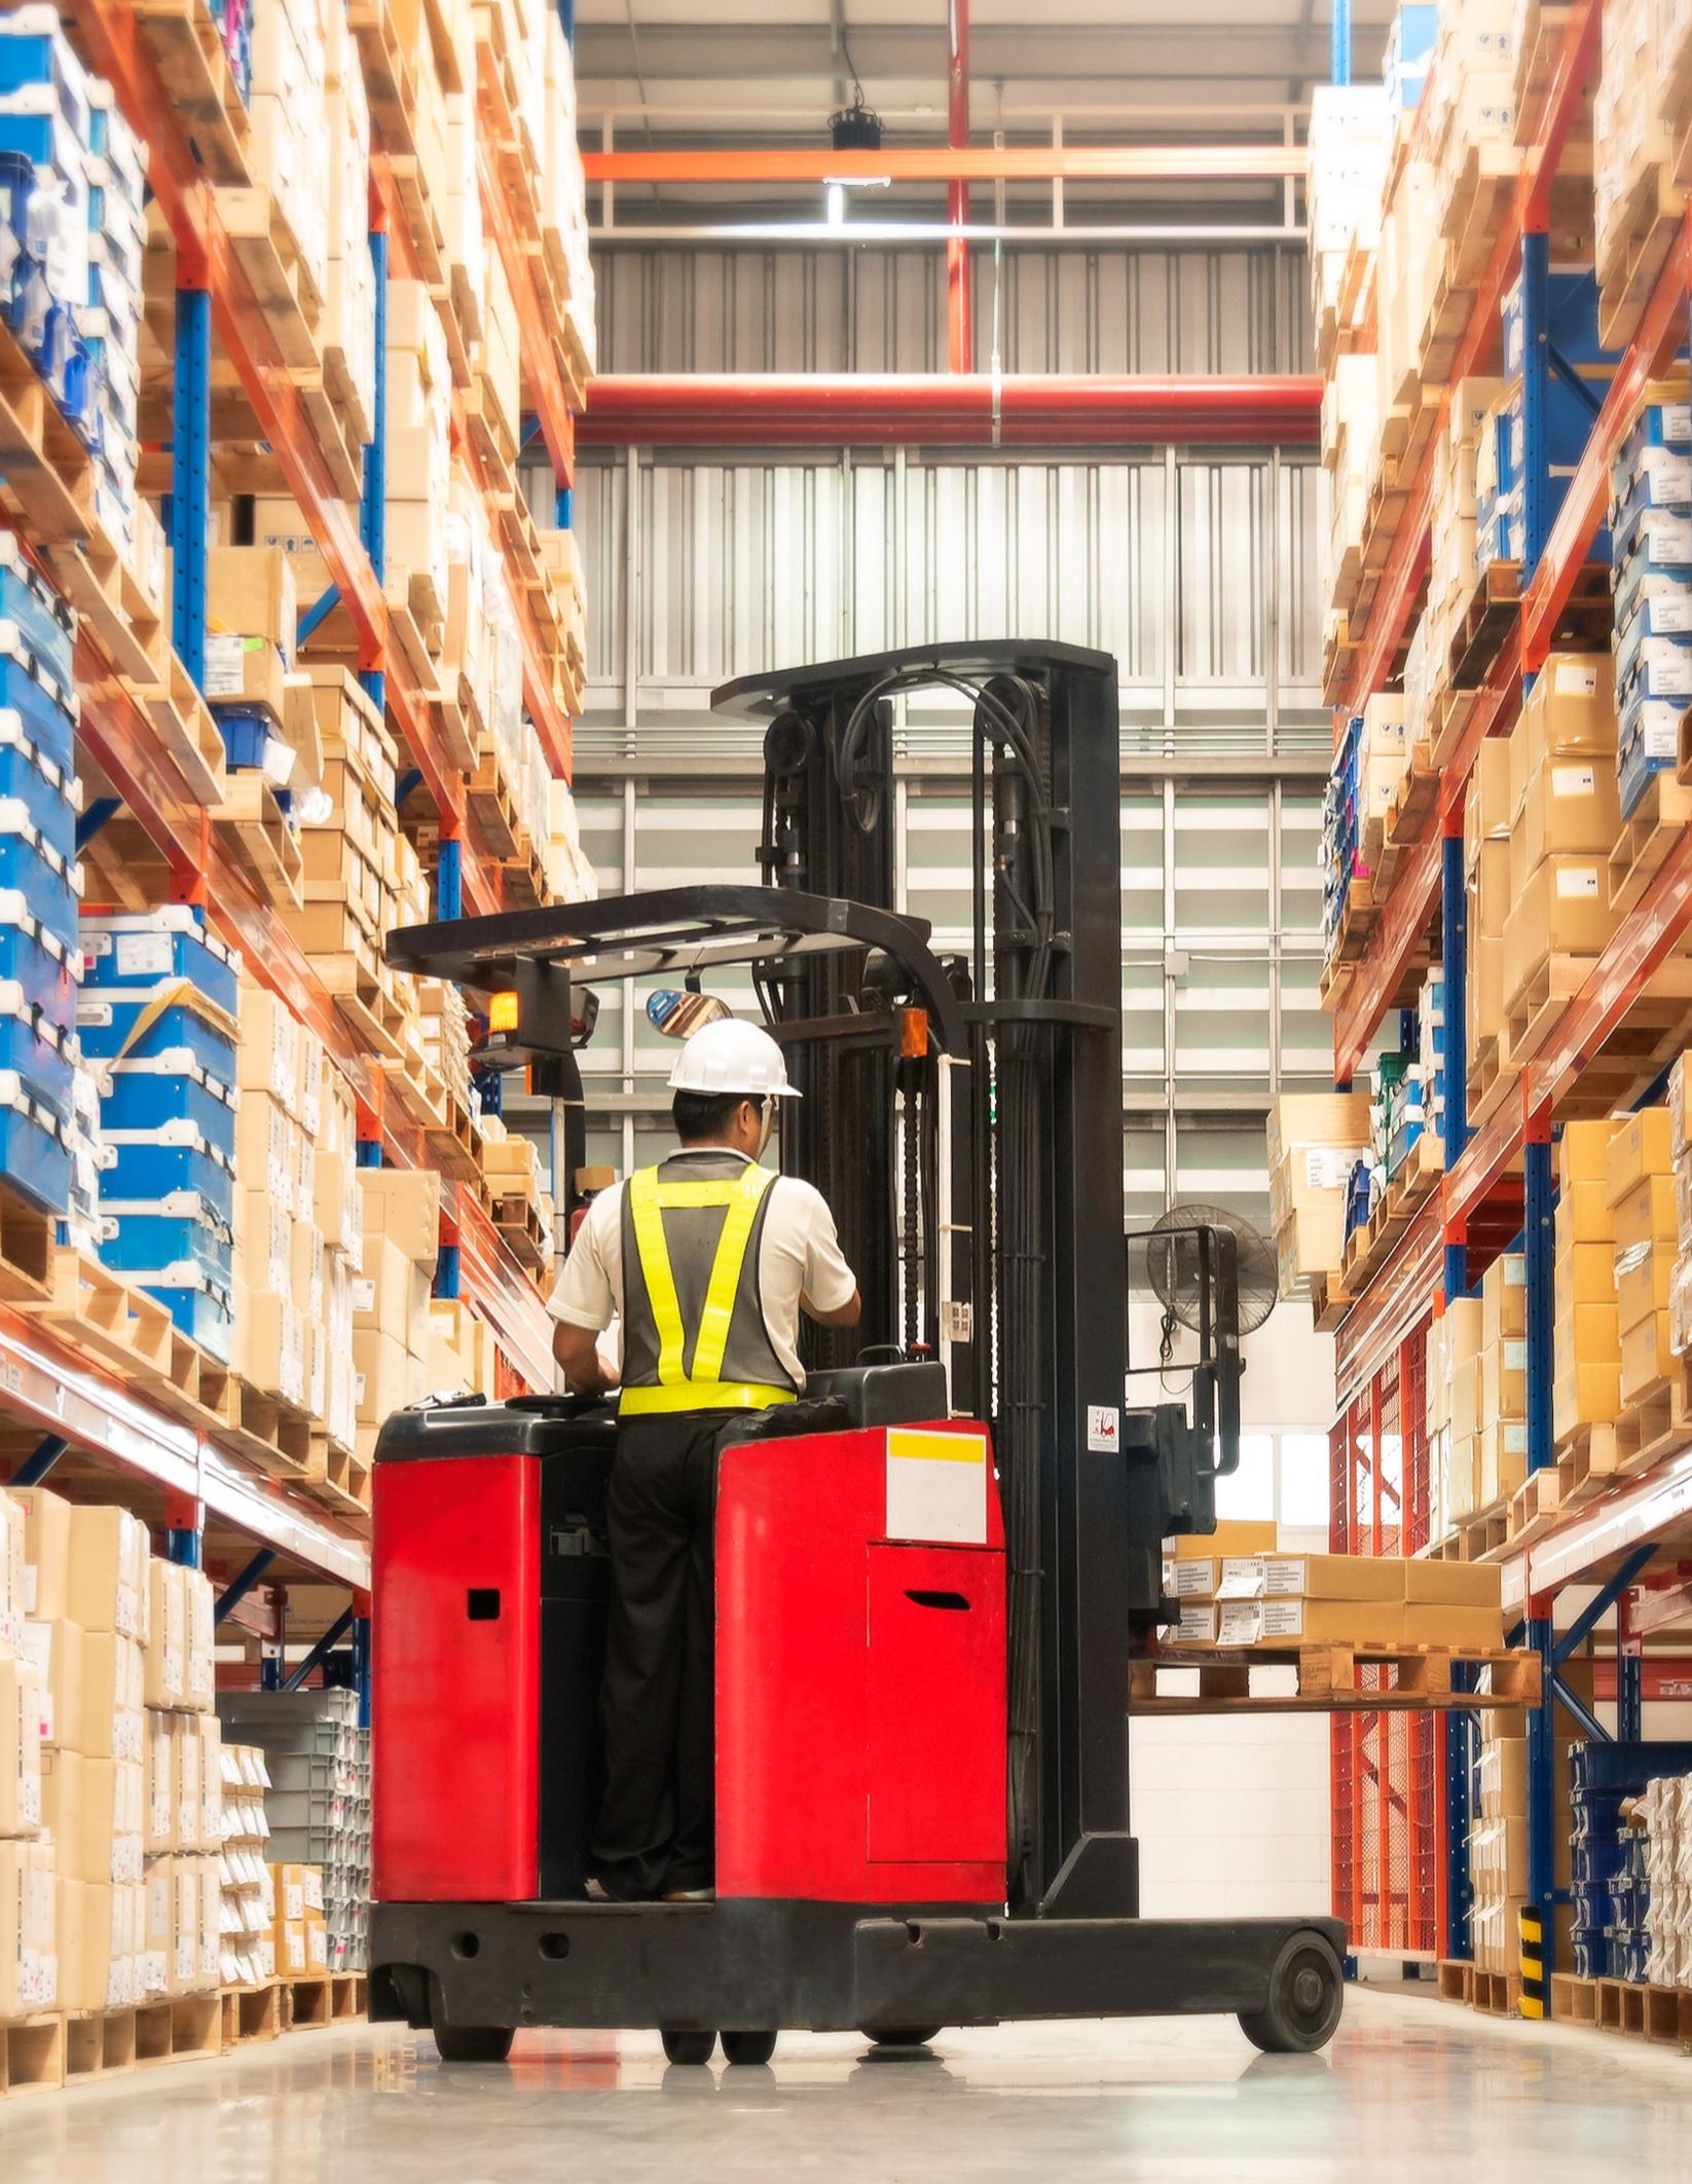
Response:
[[[972,723],[972,930],[950,957],[899,911],[893,854],[895,708],[934,688]],[[513,1053],[541,1061],[568,1057],[574,976],[751,965],[803,1092],[782,1164],[834,1208],[869,1341],[937,1354],[954,1411],[993,1431],[1011,1911],[1135,1915],[1129,1662],[1175,1616],[1166,1533],[1214,1527],[1238,1459],[1238,1313],[1231,1238],[1207,1230],[1194,1409],[1124,1411],[1116,662],[919,646],[740,679],[714,705],[766,723],[762,887],[421,926],[389,959],[515,989]],[[856,1337],[806,1343],[832,1367]]]

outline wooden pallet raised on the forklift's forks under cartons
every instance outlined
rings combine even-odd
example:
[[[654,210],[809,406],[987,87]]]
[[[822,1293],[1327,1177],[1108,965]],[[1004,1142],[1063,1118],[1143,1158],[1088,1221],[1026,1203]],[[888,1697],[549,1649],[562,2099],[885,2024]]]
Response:
[[[1251,1690],[1253,1669],[1288,1666],[1299,1673],[1295,1693]],[[1454,1688],[1456,1666],[1487,1671],[1489,1688],[1485,1693]],[[1161,1693],[1157,1675],[1164,1669],[1196,1669],[1199,1690]],[[1362,1682],[1365,1673],[1380,1682]],[[1389,1673],[1391,1684],[1384,1682]],[[1395,1714],[1537,1704],[1539,1655],[1506,1649],[1264,1642],[1164,1649],[1129,1666],[1129,1708],[1135,1714]]]

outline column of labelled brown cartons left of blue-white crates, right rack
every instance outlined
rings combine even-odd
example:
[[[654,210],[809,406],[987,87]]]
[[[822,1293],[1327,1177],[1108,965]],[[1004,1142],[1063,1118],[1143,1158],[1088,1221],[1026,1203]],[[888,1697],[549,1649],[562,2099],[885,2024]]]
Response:
[[[1552,961],[1589,963],[1616,930],[1609,852],[1616,804],[1616,684],[1607,653],[1552,653],[1511,732],[1511,911],[1504,1011],[1530,1016]]]

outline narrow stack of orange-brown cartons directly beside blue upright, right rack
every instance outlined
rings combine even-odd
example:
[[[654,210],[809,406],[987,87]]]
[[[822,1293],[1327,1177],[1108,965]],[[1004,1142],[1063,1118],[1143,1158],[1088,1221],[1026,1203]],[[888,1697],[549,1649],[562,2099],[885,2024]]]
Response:
[[[1565,1123],[1557,1149],[1550,1431],[1559,1448],[1587,1426],[1611,1424],[1622,1406],[1609,1138],[1607,1120]]]

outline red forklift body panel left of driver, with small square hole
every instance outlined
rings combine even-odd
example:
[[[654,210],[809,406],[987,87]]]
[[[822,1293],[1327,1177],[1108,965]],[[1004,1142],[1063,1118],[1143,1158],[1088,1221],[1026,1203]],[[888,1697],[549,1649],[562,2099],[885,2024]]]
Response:
[[[522,1902],[539,1887],[539,1465],[378,1463],[373,1894]]]

